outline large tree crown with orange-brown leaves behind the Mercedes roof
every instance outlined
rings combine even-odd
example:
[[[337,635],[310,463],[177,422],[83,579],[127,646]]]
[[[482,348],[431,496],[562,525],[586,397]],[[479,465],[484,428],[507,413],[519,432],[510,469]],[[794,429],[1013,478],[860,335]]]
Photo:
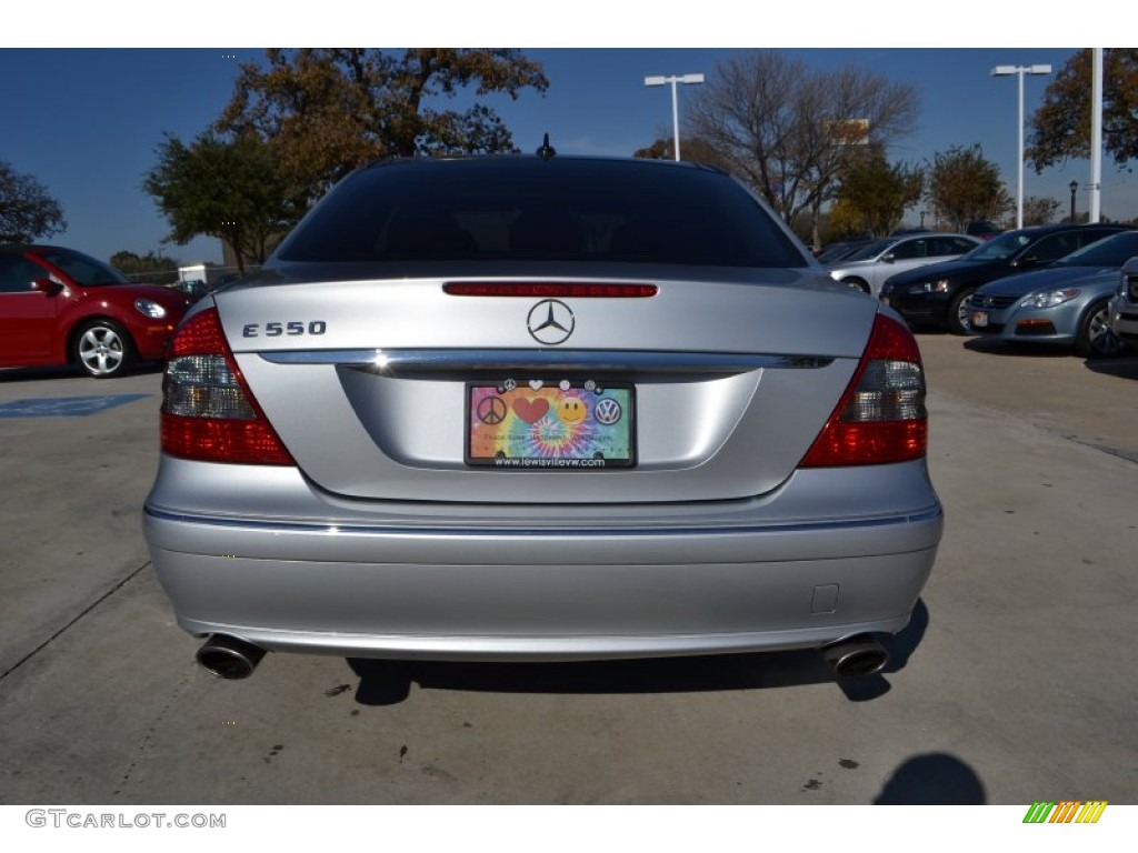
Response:
[[[549,88],[542,66],[517,50],[269,50],[266,60],[241,66],[215,130],[267,141],[282,177],[310,199],[372,159],[513,151],[493,109],[439,101],[470,88],[513,99]]]

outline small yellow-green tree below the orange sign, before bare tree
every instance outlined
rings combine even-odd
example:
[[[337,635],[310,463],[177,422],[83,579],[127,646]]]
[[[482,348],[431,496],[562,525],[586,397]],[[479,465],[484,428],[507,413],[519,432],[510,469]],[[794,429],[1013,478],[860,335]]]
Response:
[[[861,149],[840,177],[834,202],[839,223],[849,233],[868,231],[883,237],[900,224],[905,208],[920,201],[923,191],[920,167],[890,164],[884,147],[874,143]]]

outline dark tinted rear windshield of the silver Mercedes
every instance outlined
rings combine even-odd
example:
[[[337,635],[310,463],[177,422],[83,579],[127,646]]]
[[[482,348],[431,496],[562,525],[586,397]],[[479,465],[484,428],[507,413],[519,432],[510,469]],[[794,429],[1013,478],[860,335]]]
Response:
[[[801,267],[734,180],[666,164],[403,162],[354,173],[281,246],[296,262],[595,260]]]

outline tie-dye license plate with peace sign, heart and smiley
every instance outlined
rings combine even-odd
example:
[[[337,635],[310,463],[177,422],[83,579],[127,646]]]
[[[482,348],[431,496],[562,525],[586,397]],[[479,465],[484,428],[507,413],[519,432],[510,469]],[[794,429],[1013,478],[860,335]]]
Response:
[[[635,400],[627,382],[468,382],[467,464],[518,471],[630,467]]]

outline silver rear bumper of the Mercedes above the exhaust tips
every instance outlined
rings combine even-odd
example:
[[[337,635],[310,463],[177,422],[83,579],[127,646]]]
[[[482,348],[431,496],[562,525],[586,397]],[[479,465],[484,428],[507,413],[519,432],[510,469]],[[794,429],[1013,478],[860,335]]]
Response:
[[[800,471],[776,497],[718,507],[349,517],[325,499],[337,517],[319,520],[298,505],[290,517],[176,510],[159,474],[146,536],[185,630],[270,649],[588,660],[817,647],[904,628],[935,557],[943,519],[924,464],[873,472]],[[295,470],[270,477],[305,503]],[[880,486],[869,512],[833,513],[833,492],[865,494],[867,477]],[[890,486],[914,505],[883,511]],[[827,491],[813,516],[798,511]]]

